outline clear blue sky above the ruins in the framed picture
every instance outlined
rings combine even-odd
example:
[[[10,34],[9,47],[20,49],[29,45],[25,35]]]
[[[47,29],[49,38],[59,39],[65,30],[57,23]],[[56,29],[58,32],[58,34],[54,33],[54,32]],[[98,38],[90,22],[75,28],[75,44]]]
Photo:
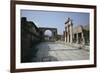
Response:
[[[27,17],[37,27],[57,28],[58,34],[63,34],[68,17],[73,20],[73,26],[89,24],[89,13],[21,10],[21,17]]]

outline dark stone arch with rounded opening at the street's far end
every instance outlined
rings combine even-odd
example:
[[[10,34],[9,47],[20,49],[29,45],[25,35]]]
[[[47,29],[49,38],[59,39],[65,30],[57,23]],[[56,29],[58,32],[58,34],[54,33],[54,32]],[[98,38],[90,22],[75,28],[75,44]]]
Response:
[[[50,41],[55,41],[57,37],[57,28],[47,28],[47,27],[39,27],[39,30],[41,31],[42,35],[41,37],[45,38],[46,36],[44,35],[46,30],[50,30],[52,32],[52,36]]]

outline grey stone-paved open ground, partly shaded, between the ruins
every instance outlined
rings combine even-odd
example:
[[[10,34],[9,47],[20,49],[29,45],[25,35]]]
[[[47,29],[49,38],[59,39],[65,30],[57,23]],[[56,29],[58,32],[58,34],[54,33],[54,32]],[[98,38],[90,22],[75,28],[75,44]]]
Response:
[[[89,51],[60,42],[43,42],[38,44],[36,48],[38,49],[36,57],[32,59],[35,62],[89,59]]]

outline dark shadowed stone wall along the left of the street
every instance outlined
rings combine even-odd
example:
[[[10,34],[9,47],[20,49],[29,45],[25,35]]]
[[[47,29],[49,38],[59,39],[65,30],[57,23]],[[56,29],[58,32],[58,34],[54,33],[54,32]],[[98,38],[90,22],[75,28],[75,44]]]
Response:
[[[41,41],[41,32],[34,22],[27,21],[25,17],[21,18],[21,62],[31,61],[33,48]]]

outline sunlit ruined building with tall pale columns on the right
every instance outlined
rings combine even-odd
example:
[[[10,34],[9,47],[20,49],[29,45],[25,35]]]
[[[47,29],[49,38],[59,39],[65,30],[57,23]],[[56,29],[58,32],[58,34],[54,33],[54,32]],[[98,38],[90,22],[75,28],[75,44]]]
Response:
[[[73,27],[70,18],[65,22],[64,41],[67,43],[89,44],[89,26]]]

